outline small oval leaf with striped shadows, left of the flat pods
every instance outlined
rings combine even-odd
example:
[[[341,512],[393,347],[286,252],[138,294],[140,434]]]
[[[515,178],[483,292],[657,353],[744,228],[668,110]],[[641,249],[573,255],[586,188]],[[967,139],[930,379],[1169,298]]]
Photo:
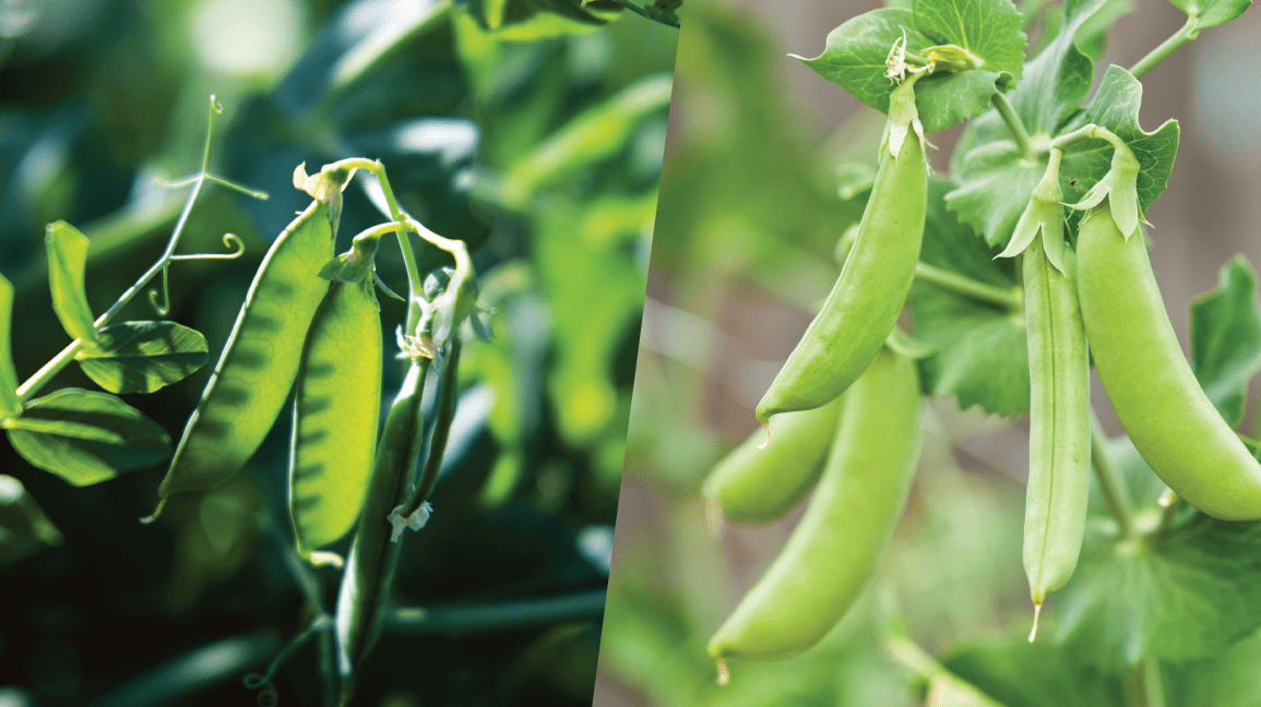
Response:
[[[151,393],[206,364],[206,336],[174,321],[126,321],[97,331],[76,359],[111,393]]]

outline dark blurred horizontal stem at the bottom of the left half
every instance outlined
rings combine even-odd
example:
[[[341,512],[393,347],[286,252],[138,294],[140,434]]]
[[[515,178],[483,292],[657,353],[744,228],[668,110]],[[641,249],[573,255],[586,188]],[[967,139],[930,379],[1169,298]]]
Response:
[[[402,607],[388,619],[387,629],[401,633],[465,634],[520,626],[585,621],[604,612],[605,590],[589,590],[546,599],[497,604]]]

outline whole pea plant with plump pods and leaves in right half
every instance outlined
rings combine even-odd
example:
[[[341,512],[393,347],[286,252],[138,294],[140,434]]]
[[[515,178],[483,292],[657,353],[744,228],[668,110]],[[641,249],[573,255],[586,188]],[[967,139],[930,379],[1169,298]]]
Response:
[[[1261,451],[1236,431],[1261,369],[1256,275],[1233,260],[1197,300],[1188,360],[1148,258],[1159,229],[1144,228],[1179,125],[1145,130],[1139,108],[1148,72],[1248,3],[1174,4],[1185,25],[1129,69],[1102,69],[1093,93],[1116,19],[1102,0],[917,0],[850,19],[802,59],[888,117],[874,175],[841,170],[861,216],[757,405],[764,428],[702,485],[718,532],[777,519],[813,488],[707,643],[733,699],[758,702],[741,669],[810,652],[859,605],[907,505],[921,396],[939,396],[1028,415],[1031,630],[942,664],[897,606],[878,609],[885,653],[927,683],[927,703],[1229,703],[1192,693],[1261,628]],[[931,136],[961,121],[950,173],[929,175]],[[1092,363],[1124,440],[1095,420]],[[1063,692],[1048,701],[1045,686]]]

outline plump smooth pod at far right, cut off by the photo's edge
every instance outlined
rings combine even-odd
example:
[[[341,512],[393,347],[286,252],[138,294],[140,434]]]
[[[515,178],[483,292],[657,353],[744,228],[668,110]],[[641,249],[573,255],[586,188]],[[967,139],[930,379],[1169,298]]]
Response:
[[[1261,464],[1209,402],[1183,355],[1135,231],[1090,213],[1077,292],[1095,368],[1142,459],[1188,503],[1223,520],[1261,518]]]

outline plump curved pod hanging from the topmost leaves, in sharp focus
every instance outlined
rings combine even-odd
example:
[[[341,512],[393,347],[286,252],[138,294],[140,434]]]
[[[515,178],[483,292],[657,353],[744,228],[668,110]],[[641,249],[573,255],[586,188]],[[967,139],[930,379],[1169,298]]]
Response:
[[[886,150],[841,276],[770,389],[757,417],[820,407],[850,387],[893,330],[923,242],[928,173],[919,140]]]

